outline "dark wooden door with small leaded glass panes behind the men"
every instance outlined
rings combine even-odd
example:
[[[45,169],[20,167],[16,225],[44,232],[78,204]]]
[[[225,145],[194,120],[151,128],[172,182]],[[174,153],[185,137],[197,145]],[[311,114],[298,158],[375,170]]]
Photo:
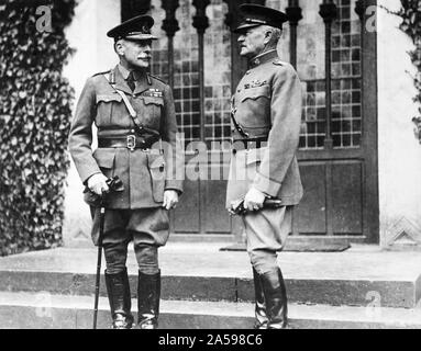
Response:
[[[293,21],[285,26],[279,46],[284,60],[296,60],[303,88],[298,158],[304,196],[295,211],[291,235],[378,242],[376,35],[362,33],[365,19],[356,15],[361,4],[356,0],[334,1],[337,18],[329,33],[319,14],[321,0],[268,0],[266,4],[285,11],[297,2],[302,19],[297,26]],[[196,14],[192,2],[179,1],[174,95],[186,145],[204,141],[211,150],[212,141],[230,137],[231,92],[246,70],[246,63],[239,56],[236,35],[230,32],[225,20],[235,25],[239,3],[211,0],[206,10],[210,26],[200,41],[191,26]],[[376,1],[365,1],[365,5],[372,4]],[[158,5],[154,9],[158,11]],[[154,55],[154,72],[165,76],[165,43]],[[326,97],[331,97],[330,101]],[[211,161],[217,154],[220,161]],[[219,167],[222,173],[229,163],[229,151],[214,149],[208,155],[202,166],[209,172]],[[187,163],[195,156],[193,149],[187,151]],[[224,208],[225,186],[223,177],[187,179],[181,203],[171,217],[173,231],[201,239],[241,235],[237,220]]]

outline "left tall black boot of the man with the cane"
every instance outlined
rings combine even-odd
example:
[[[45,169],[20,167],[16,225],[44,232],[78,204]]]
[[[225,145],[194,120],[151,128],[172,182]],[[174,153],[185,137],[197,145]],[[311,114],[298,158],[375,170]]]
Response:
[[[111,308],[112,329],[131,329],[133,316],[130,312],[132,301],[128,270],[124,269],[117,274],[108,274],[106,271],[106,285]]]

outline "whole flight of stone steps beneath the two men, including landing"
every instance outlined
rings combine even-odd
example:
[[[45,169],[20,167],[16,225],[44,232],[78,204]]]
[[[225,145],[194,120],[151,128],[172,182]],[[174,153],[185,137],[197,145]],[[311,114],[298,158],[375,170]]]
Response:
[[[221,252],[217,244],[173,245],[162,250],[160,265],[160,328],[252,328],[246,253]],[[292,328],[421,328],[420,253],[367,247],[342,253],[285,252],[280,265]],[[1,328],[91,328],[95,267],[95,249],[0,258]],[[135,314],[133,258],[128,268]],[[103,276],[100,291],[98,326],[108,328]]]

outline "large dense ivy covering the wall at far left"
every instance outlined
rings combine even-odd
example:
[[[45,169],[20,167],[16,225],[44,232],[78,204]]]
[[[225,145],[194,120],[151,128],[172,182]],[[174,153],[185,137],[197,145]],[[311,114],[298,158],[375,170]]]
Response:
[[[46,4],[51,29],[40,31]],[[74,9],[75,0],[0,2],[0,256],[62,244],[74,99],[64,29]]]

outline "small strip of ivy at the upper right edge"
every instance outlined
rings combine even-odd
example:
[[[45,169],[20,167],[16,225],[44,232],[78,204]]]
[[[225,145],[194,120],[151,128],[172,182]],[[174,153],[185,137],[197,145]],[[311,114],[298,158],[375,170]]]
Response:
[[[402,19],[400,30],[405,32],[416,45],[416,49],[409,52],[412,64],[417,67],[413,82],[418,94],[413,98],[420,107],[419,115],[412,118],[416,124],[416,136],[421,144],[421,0],[400,0],[402,8],[395,14]]]

